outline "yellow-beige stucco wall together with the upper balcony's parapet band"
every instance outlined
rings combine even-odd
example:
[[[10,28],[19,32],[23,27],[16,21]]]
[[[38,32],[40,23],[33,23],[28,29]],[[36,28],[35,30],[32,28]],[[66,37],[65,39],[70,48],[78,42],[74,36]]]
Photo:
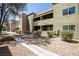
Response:
[[[70,8],[75,6],[75,14],[71,15],[62,15],[63,9]],[[53,18],[40,20],[34,22],[34,26],[37,25],[45,25],[45,24],[53,24],[53,31],[63,30],[63,25],[75,25],[75,35],[74,38],[79,38],[79,4],[77,3],[63,3],[56,4],[53,6]],[[42,31],[42,35],[47,36],[46,31]]]

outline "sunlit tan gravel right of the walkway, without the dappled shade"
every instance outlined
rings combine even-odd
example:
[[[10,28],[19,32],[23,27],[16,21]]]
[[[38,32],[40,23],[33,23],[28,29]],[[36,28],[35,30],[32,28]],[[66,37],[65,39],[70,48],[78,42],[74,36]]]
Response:
[[[61,56],[79,56],[79,43],[69,43],[60,38],[51,38],[50,44],[40,45],[40,47]],[[78,41],[78,40],[77,40]]]

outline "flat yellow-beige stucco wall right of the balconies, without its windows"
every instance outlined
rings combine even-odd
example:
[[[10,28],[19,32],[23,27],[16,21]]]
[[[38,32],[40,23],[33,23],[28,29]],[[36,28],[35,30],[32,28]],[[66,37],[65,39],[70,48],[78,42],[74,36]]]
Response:
[[[66,8],[70,8],[75,6],[75,14],[71,15],[62,15],[62,10]],[[74,38],[79,38],[79,14],[78,14],[78,4],[69,3],[69,4],[57,4],[53,7],[54,13],[54,30],[61,30],[63,29],[63,25],[75,25],[75,35]]]

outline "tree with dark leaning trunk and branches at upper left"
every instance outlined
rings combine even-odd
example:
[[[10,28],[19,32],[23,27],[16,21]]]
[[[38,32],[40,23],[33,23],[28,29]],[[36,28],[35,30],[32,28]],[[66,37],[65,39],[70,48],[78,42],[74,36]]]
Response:
[[[17,16],[19,11],[22,11],[24,9],[26,4],[24,3],[1,3],[1,17],[0,17],[0,34],[3,27],[3,24],[5,22],[6,17],[9,17],[10,15]],[[7,16],[8,15],[8,16]]]

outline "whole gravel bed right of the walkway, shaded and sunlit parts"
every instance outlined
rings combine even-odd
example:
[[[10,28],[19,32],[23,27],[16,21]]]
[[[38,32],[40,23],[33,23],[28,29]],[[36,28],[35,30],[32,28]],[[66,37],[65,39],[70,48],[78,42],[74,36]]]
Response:
[[[26,35],[24,40],[30,42],[30,44],[35,44],[60,56],[79,56],[78,39],[73,39],[74,42],[70,43],[62,41],[61,38],[33,38]]]

